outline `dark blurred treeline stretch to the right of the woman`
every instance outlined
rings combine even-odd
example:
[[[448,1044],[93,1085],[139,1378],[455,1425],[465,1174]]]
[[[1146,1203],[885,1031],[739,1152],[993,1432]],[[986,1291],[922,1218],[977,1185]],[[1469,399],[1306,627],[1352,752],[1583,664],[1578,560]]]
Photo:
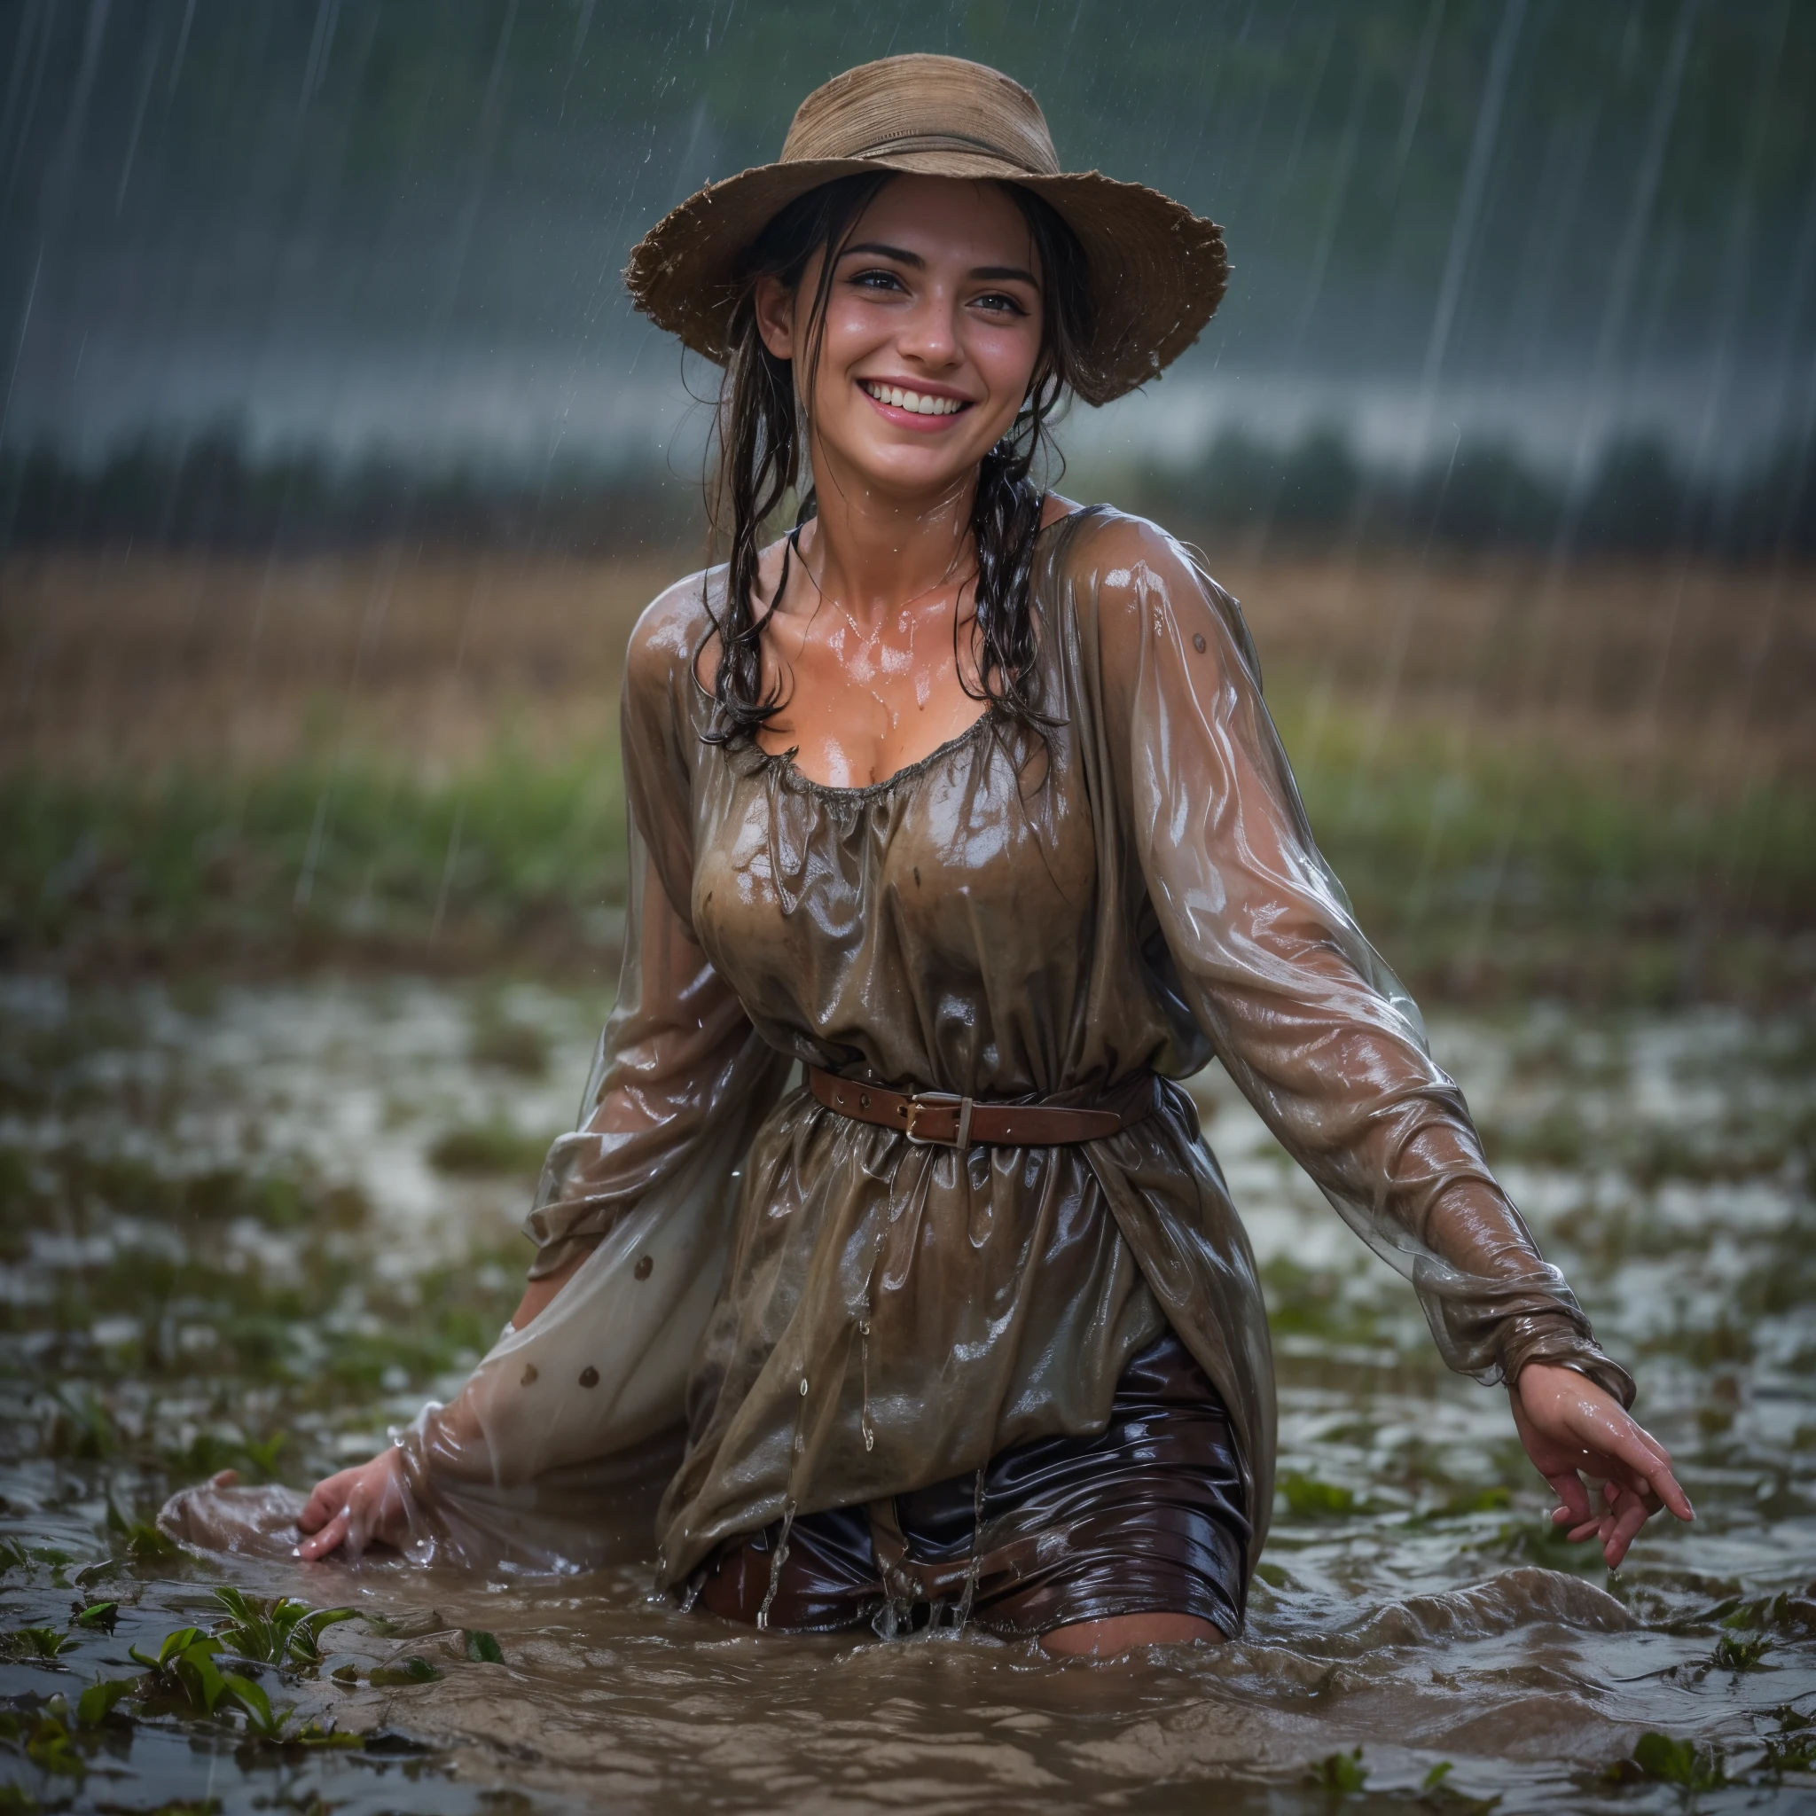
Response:
[[[1466,441],[1407,470],[1362,459],[1333,429],[1289,447],[1229,430],[1204,459],[1146,469],[1133,487],[1155,516],[1224,532],[1756,559],[1816,554],[1812,452],[1785,441],[1732,476],[1694,474],[1662,441],[1627,436],[1573,479],[1505,443]]]

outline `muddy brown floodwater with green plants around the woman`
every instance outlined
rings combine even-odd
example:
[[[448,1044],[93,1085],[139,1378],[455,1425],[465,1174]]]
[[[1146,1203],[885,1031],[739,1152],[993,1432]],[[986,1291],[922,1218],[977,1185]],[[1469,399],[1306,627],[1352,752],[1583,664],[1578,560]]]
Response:
[[[1061,1665],[975,1633],[734,1633],[637,1569],[527,1585],[160,1553],[136,1522],[169,1487],[223,1466],[303,1484],[458,1384],[516,1297],[525,1155],[565,1120],[601,1008],[418,982],[4,986],[0,1529],[25,1549],[0,1625],[71,1638],[51,1660],[11,1642],[0,1778],[131,1809],[1667,1811],[1691,1796],[1671,1774],[1725,1778],[1694,1792],[1709,1811],[1816,1801],[1798,1021],[1544,1008],[1433,1030],[1700,1511],[1614,1576],[1549,1536],[1504,1397],[1435,1364],[1404,1284],[1217,1075],[1209,1137],[1280,1355],[1280,1504],[1242,1643]],[[361,1611],[316,1667],[262,1682],[292,1734],[314,1718],[365,1745],[256,1745],[142,1683],[129,1725],[58,1754],[45,1698],[136,1676],[129,1647],[220,1622],[222,1584]],[[73,1625],[94,1600],[120,1604],[111,1634]],[[1683,1745],[1622,1774],[1649,1731]]]

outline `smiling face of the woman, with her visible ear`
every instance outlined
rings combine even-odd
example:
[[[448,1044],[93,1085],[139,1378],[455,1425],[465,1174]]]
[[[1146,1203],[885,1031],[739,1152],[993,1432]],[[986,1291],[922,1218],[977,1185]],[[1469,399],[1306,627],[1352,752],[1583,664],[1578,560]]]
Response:
[[[815,256],[790,292],[757,285],[757,327],[804,383]],[[993,183],[899,176],[839,254],[812,398],[815,483],[950,494],[1002,438],[1041,356],[1041,272],[1021,209]],[[823,456],[846,472],[821,470]]]

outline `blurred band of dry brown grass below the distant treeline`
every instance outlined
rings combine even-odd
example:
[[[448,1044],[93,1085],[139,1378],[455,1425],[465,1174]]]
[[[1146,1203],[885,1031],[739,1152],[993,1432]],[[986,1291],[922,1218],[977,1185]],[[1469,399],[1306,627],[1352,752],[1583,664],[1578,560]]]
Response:
[[[610,728],[630,627],[685,568],[414,548],[15,558],[0,768],[142,777],[350,743],[430,775],[499,737],[556,757]],[[1718,792],[1816,774],[1816,574],[1398,554],[1213,568],[1288,721],[1538,741]]]

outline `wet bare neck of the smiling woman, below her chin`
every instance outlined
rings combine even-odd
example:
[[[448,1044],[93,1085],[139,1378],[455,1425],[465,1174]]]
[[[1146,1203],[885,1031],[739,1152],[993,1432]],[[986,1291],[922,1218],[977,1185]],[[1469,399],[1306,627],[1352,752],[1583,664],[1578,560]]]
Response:
[[[970,570],[975,472],[943,494],[903,499],[855,474],[826,472],[828,465],[815,463],[819,512],[801,532],[801,547],[819,590],[859,625]]]

